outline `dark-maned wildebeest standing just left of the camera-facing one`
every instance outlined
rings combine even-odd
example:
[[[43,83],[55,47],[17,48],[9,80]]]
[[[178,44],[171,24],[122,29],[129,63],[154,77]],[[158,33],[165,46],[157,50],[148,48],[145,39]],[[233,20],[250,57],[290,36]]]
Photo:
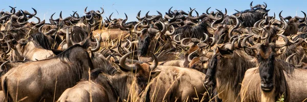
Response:
[[[205,85],[215,87],[218,98],[223,101],[240,101],[240,83],[245,71],[257,64],[242,50],[235,50],[237,39],[221,48],[217,47],[218,50],[207,63]]]

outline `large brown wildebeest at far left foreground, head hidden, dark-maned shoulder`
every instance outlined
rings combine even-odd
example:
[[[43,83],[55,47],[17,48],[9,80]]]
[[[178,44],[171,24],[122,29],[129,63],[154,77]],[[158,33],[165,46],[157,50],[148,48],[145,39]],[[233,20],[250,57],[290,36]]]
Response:
[[[87,51],[74,45],[53,58],[12,68],[3,76],[2,88],[9,101],[54,101],[92,69]]]

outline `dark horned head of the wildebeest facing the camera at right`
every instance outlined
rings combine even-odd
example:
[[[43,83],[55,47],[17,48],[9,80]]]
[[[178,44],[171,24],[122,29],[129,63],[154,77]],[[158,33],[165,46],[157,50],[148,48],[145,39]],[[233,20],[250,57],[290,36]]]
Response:
[[[247,47],[245,42],[252,35],[246,37],[243,40],[243,47],[247,54],[256,57],[257,62],[259,64],[259,74],[261,79],[261,90],[265,92],[270,92],[274,88],[279,87],[280,78],[283,77],[284,69],[287,69],[289,66],[280,66],[279,63],[282,61],[278,61],[275,57],[286,52],[289,46],[289,39],[284,35],[281,36],[285,44],[277,45],[275,43],[270,44],[261,44],[258,46]],[[283,69],[280,69],[283,68]],[[293,69],[292,69],[293,70]],[[292,72],[290,67],[286,72]]]

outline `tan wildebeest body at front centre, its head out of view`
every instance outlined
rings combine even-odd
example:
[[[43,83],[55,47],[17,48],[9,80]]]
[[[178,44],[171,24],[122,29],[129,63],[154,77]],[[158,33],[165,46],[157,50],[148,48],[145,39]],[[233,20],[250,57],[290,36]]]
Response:
[[[199,71],[171,66],[158,66],[157,69],[161,70],[161,73],[150,85],[151,101],[162,101],[165,94],[164,100],[192,101],[192,97],[197,97],[195,89],[199,99],[202,99],[202,94],[206,92],[203,86],[206,75]],[[207,101],[208,97],[204,96],[204,99]]]

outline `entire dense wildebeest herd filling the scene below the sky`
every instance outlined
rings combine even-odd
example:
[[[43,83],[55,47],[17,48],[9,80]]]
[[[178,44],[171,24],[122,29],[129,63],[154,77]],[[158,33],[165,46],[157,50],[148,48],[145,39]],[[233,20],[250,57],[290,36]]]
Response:
[[[86,7],[45,23],[34,8],[10,6],[0,12],[0,99],[306,100],[306,14],[276,19],[266,3],[252,3],[230,15],[139,11],[136,22]]]

